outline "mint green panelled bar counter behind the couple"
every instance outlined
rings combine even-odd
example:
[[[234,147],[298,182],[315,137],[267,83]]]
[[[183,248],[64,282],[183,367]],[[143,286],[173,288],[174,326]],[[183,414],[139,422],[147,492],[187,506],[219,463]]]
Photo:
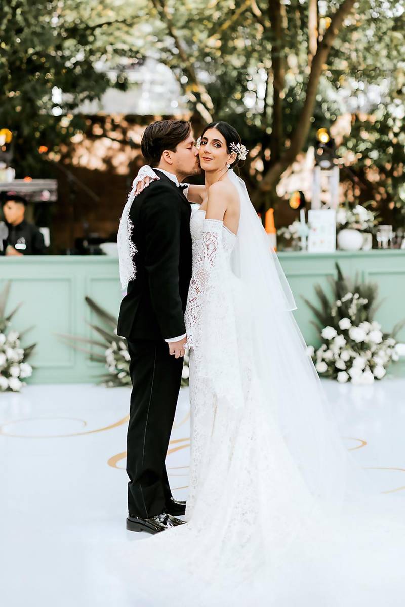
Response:
[[[405,317],[405,251],[280,253],[279,259],[298,305],[294,316],[307,344],[318,345],[319,336],[310,323],[313,315],[302,296],[316,303],[313,287],[319,283],[328,290],[327,277],[335,276],[335,261],[344,274],[355,277],[357,273],[361,282],[378,284],[379,299],[383,301],[376,320],[384,331],[390,331]],[[35,372],[27,383],[97,381],[105,371],[103,365],[89,361],[86,353],[70,348],[56,333],[97,339],[89,326],[97,323],[97,318],[84,302],[86,295],[118,316],[121,300],[118,260],[107,256],[2,257],[0,287],[7,280],[12,280],[7,310],[23,302],[13,318],[13,328],[22,331],[34,325],[23,345],[38,343],[30,360]],[[405,329],[398,340],[405,342]]]

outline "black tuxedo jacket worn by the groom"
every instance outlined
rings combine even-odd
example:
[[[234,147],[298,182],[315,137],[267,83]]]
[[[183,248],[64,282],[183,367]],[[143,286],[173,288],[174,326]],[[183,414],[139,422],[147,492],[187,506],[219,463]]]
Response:
[[[171,339],[186,333],[184,312],[191,280],[191,205],[173,181],[156,171],[132,203],[137,274],[121,301],[118,335]]]

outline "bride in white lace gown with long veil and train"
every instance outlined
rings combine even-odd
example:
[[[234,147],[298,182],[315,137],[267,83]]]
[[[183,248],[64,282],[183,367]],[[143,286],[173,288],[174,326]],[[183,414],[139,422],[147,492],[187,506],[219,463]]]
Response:
[[[134,605],[402,605],[403,502],[373,493],[338,435],[287,280],[233,171],[247,150],[224,122],[197,144],[188,523],[131,543]]]

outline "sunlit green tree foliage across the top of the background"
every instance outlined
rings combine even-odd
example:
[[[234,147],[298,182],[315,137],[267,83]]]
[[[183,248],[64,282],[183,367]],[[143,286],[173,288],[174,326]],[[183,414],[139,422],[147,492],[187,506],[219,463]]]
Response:
[[[319,41],[342,4],[344,0],[319,0]],[[128,70],[151,57],[174,73],[195,112],[197,130],[207,114],[237,127],[247,147],[254,149],[242,171],[256,208],[272,205],[274,184],[262,184],[276,160],[271,157],[274,129],[282,152],[305,127],[300,116],[314,35],[308,0],[279,4],[281,33],[271,15],[275,5],[269,0],[4,2],[0,128],[15,134],[18,176],[41,175],[39,145],[49,148],[52,158],[52,152],[83,129],[78,107],[100,98],[109,86],[126,87]],[[355,108],[349,132],[338,137],[338,154],[364,186],[364,200],[390,205],[393,215],[386,212],[384,219],[394,223],[401,221],[405,207],[404,9],[405,0],[355,3],[322,66],[308,118],[310,132],[302,146],[305,151],[316,129],[331,126],[348,107]],[[114,77],[111,68],[117,70]],[[52,101],[53,87],[64,92],[60,104]],[[52,114],[56,105],[61,108],[56,109],[58,116]]]

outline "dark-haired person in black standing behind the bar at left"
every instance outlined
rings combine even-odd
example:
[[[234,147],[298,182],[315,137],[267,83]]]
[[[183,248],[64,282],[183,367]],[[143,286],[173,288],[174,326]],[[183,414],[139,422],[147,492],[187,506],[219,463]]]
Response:
[[[39,228],[25,219],[27,201],[17,194],[5,194],[1,198],[5,225],[9,236],[3,241],[5,256],[42,255],[44,237]]]

